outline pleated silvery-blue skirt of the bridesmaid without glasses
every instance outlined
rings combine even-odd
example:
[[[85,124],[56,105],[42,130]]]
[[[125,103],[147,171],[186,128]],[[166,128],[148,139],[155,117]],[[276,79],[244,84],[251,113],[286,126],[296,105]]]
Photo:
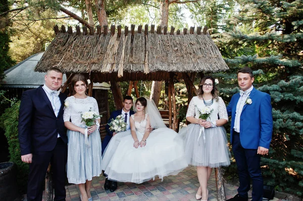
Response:
[[[80,184],[102,173],[100,133],[95,130],[88,136],[88,148],[81,132],[68,130],[67,178],[69,183]]]

